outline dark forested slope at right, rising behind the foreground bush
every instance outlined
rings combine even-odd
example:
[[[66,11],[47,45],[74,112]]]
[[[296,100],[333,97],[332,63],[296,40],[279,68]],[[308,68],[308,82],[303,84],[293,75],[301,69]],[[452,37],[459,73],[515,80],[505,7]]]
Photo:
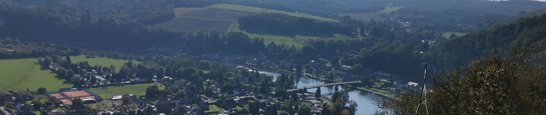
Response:
[[[490,56],[498,49],[520,46],[546,47],[546,14],[448,39],[431,46],[424,58],[435,62],[430,64],[432,68],[454,68],[458,65],[455,60],[468,62],[471,57]],[[546,51],[536,52],[534,56],[536,63],[546,64]]]

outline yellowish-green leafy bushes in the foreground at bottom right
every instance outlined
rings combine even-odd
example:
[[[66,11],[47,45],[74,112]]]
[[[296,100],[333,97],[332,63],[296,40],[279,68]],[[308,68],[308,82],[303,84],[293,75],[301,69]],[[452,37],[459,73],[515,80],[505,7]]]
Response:
[[[546,114],[546,66],[531,65],[531,52],[498,53],[430,78],[429,114]],[[418,100],[418,94],[406,94],[379,102],[376,114],[416,114]]]

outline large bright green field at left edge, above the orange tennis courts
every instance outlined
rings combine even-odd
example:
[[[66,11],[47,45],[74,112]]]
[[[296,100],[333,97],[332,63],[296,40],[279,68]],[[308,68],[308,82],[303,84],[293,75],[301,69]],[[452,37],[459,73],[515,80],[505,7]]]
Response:
[[[45,87],[49,91],[72,88],[73,84],[55,78],[56,74],[36,65],[36,58],[0,60],[0,92],[8,90],[38,90]]]

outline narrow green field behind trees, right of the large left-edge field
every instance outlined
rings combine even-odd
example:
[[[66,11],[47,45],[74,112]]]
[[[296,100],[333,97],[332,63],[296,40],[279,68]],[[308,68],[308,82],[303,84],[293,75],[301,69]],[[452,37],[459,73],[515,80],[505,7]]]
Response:
[[[125,63],[128,62],[128,60],[111,59],[111,58],[103,58],[103,57],[85,58],[84,55],[72,56],[70,57],[70,59],[72,59],[72,63],[87,61],[89,62],[89,65],[91,66],[94,66],[95,64],[103,65],[103,66],[115,65],[117,69],[121,68],[121,66],[123,66]],[[133,63],[139,64],[140,62],[133,60]]]

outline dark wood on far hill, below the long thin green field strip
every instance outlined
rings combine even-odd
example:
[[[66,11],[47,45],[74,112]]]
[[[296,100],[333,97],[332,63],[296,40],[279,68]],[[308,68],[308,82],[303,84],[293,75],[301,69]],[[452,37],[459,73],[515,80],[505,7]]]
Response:
[[[352,25],[333,25],[328,21],[318,21],[305,17],[295,17],[282,13],[255,14],[239,17],[237,21],[243,29],[262,33],[284,34],[351,34],[356,31]],[[248,31],[251,31],[248,30]]]

